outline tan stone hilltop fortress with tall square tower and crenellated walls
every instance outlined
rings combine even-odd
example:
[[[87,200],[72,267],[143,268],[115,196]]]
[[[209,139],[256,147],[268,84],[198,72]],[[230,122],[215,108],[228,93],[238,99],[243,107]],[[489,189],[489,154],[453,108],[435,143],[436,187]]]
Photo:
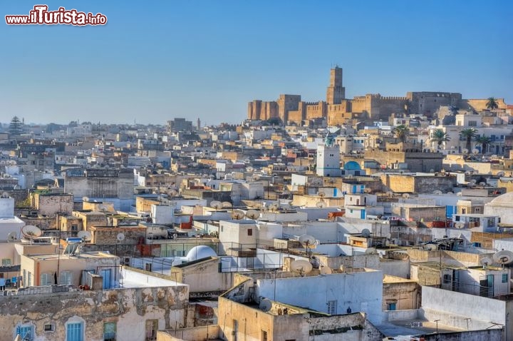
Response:
[[[342,82],[342,68],[331,68],[326,101],[304,102],[301,95],[280,95],[276,101],[254,100],[248,103],[249,120],[281,118],[284,123],[301,124],[303,121],[326,119],[328,125],[337,126],[352,119],[388,120],[391,114],[420,114],[432,117],[440,106],[482,111],[487,99],[462,99],[461,93],[408,92],[405,97],[385,97],[379,93],[346,98]],[[507,108],[504,98],[497,98],[499,108]]]

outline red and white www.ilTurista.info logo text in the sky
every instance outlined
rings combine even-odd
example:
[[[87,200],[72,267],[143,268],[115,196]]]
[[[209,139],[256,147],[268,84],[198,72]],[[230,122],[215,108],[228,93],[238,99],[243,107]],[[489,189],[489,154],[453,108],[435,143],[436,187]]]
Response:
[[[36,5],[27,15],[6,16],[8,25],[105,25],[107,16],[101,13],[79,12],[76,9],[59,7],[57,11],[48,11],[46,5]]]

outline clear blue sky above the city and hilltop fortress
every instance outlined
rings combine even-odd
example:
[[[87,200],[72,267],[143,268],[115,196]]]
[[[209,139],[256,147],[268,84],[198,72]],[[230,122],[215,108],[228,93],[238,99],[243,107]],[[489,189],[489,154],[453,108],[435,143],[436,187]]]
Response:
[[[34,4],[106,26],[8,26]],[[0,122],[238,123],[247,102],[452,91],[513,103],[513,1],[2,1]]]

